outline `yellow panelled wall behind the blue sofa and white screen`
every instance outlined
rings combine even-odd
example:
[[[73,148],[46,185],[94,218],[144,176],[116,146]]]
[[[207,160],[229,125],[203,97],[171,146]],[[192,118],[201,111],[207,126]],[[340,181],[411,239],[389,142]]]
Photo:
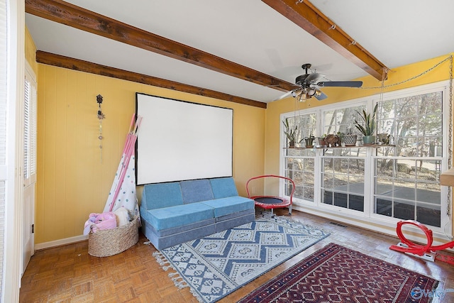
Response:
[[[92,212],[101,212],[135,111],[135,92],[233,109],[233,177],[245,195],[249,177],[262,175],[265,109],[145,84],[39,66],[38,184],[35,243],[82,235]],[[96,96],[104,97],[99,148]],[[140,189],[139,189],[140,192]]]

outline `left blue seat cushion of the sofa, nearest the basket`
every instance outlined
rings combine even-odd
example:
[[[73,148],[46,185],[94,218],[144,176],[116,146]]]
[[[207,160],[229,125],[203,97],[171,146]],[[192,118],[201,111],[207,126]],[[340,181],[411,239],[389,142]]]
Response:
[[[214,217],[214,209],[201,203],[153,209],[147,211],[147,213],[145,214],[145,220],[149,221],[157,231],[184,226]]]

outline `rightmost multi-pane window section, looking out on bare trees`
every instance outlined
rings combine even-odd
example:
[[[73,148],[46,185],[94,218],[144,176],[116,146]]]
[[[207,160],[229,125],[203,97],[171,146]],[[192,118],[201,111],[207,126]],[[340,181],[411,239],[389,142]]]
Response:
[[[441,227],[443,93],[382,102],[379,131],[395,148],[377,150],[375,213]]]

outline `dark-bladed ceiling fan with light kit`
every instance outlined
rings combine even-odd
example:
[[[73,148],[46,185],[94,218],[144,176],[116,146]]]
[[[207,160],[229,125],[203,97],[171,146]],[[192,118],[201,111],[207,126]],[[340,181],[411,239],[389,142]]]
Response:
[[[311,72],[309,74],[307,70],[309,70],[311,66],[310,63],[301,66],[303,70],[306,71],[306,74],[299,75],[297,79],[295,79],[295,84],[297,84],[298,88],[287,92],[279,99],[283,99],[291,94],[292,97],[297,98],[297,100],[301,102],[312,97],[315,97],[320,101],[328,98],[328,96],[326,96],[319,87],[361,87],[362,85],[362,81],[321,81],[323,78],[326,79],[325,75],[317,72]]]

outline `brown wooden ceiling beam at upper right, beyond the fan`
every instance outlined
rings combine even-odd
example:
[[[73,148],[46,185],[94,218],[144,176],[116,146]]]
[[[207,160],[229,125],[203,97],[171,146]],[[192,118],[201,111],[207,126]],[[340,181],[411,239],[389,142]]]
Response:
[[[307,0],[262,0],[304,31],[382,81],[389,70]]]

